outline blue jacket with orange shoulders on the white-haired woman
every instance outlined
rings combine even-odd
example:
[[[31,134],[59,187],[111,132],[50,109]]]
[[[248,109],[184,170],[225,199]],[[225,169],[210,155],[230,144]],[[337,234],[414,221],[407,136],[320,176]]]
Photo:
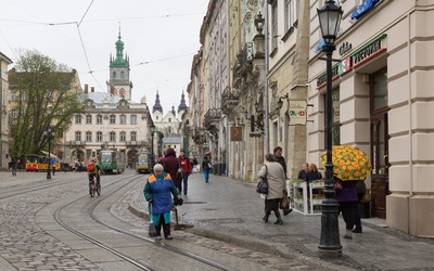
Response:
[[[144,198],[152,199],[152,212],[155,215],[165,214],[171,210],[174,202],[171,195],[178,196],[178,189],[175,186],[170,175],[163,172],[161,177],[152,175],[143,189]]]

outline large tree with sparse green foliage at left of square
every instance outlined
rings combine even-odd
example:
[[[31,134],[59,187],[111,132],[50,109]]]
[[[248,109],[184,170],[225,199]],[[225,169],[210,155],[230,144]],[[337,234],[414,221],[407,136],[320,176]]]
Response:
[[[9,74],[15,91],[15,117],[10,119],[13,157],[26,157],[48,150],[43,131],[48,125],[56,136],[52,146],[71,126],[73,116],[82,114],[81,90],[76,70],[58,64],[38,51],[25,51]],[[54,143],[54,144],[53,144]]]

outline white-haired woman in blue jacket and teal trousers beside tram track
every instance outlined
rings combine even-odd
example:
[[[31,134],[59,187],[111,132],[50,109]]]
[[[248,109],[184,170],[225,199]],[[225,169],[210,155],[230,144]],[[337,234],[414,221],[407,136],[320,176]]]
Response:
[[[174,202],[170,194],[178,199],[181,199],[181,196],[171,176],[163,171],[161,164],[154,166],[154,172],[144,184],[143,194],[148,203],[152,205],[151,216],[156,230],[155,240],[162,240],[162,227],[164,237],[173,240],[174,237],[170,235],[170,210],[174,208]]]

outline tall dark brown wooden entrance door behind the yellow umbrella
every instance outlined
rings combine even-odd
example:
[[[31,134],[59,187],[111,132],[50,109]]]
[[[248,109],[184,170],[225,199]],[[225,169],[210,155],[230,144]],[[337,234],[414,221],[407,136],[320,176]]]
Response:
[[[371,215],[386,218],[388,191],[388,133],[387,112],[371,115]]]

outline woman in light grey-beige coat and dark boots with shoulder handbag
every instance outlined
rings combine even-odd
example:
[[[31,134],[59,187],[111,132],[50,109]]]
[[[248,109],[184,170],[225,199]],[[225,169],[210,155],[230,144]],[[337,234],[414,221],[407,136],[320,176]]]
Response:
[[[265,156],[265,164],[258,172],[259,178],[267,178],[268,194],[265,198],[265,217],[264,222],[268,222],[268,217],[271,211],[276,215],[275,224],[283,224],[283,220],[279,212],[279,202],[283,197],[283,190],[285,189],[285,173],[282,165],[275,159],[273,154]]]

